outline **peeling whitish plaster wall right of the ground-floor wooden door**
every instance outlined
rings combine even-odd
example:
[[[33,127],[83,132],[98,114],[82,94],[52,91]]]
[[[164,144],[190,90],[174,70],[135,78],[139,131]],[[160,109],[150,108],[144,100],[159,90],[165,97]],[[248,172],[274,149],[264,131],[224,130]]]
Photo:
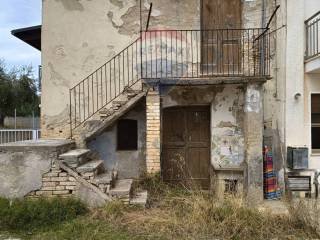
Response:
[[[211,105],[211,163],[215,169],[239,168],[244,161],[244,90],[228,86]]]

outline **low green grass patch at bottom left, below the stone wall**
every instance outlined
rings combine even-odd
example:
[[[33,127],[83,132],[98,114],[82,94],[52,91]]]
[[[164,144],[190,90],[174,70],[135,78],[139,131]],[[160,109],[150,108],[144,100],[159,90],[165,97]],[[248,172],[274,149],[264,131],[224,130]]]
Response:
[[[76,218],[87,212],[79,200],[0,198],[0,230],[33,230]]]

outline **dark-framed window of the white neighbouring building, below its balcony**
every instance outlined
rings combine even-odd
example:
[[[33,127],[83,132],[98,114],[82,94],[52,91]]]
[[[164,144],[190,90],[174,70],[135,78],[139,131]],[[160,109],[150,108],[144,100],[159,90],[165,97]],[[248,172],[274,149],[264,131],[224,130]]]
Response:
[[[320,151],[320,94],[311,94],[311,146]]]

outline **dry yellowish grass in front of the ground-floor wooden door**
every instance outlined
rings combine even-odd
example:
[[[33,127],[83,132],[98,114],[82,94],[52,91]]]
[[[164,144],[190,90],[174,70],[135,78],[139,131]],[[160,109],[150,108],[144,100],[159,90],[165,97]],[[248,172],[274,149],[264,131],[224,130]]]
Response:
[[[151,192],[149,209],[116,202],[95,212],[95,217],[147,239],[319,238],[307,221],[259,212],[232,196],[217,200],[208,193],[189,192],[150,177],[141,185]]]

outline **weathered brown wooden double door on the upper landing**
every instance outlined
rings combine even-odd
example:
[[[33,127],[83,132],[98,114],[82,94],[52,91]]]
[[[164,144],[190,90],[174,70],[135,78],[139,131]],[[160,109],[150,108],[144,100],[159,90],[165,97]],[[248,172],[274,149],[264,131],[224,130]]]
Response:
[[[241,66],[241,0],[201,1],[203,74],[237,74]]]

